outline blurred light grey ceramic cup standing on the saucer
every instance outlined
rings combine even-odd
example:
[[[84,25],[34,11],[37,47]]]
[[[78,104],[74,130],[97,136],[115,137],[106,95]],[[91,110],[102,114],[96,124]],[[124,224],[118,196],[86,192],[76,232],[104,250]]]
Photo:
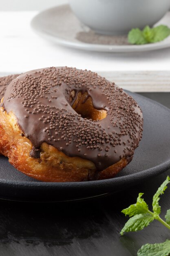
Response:
[[[100,34],[127,34],[152,27],[170,8],[170,0],[69,0],[77,18]]]

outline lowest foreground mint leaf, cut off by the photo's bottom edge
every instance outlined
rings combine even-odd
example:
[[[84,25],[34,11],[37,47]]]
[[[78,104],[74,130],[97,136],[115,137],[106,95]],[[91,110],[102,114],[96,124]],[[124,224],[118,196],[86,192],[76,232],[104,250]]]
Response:
[[[146,244],[139,249],[137,256],[168,256],[170,254],[170,240],[160,244]]]

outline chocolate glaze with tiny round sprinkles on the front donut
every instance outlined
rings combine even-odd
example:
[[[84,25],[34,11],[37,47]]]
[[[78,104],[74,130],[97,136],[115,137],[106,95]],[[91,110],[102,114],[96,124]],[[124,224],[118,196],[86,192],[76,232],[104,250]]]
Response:
[[[106,118],[93,121],[78,115],[71,107],[73,90],[75,99],[78,92],[86,92],[94,108],[107,111]],[[142,137],[142,111],[135,100],[87,70],[50,67],[21,74],[8,86],[1,107],[17,117],[33,144],[32,157],[39,157],[34,149],[46,142],[68,156],[92,161],[102,171],[122,157],[130,162]]]

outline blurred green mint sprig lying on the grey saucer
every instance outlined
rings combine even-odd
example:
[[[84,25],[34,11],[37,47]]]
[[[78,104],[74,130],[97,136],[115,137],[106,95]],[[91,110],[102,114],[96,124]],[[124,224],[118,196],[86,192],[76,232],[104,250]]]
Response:
[[[164,40],[169,35],[170,28],[166,25],[159,25],[153,28],[146,26],[143,30],[139,28],[131,29],[128,33],[128,42],[133,45],[156,43]]]

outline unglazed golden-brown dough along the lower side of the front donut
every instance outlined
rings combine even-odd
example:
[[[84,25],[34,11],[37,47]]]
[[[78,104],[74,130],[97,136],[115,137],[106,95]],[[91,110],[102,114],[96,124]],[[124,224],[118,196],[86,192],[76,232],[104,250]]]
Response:
[[[125,158],[97,172],[95,165],[80,157],[68,157],[57,148],[43,143],[40,158],[30,157],[31,141],[22,136],[15,116],[0,108],[0,153],[19,171],[46,182],[78,182],[114,177],[127,165]],[[96,177],[97,175],[97,177]]]

